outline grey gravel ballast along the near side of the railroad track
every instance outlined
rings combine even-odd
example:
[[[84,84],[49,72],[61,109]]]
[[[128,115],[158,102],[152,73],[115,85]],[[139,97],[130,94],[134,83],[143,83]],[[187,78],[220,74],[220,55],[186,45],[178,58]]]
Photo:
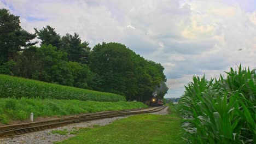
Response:
[[[168,114],[167,110],[168,110],[168,107],[166,107],[164,110],[161,110],[159,112],[154,112],[151,114],[167,115]],[[83,122],[83,123],[74,123],[74,124],[66,125],[64,127],[46,129],[46,130],[36,131],[34,133],[28,133],[24,135],[15,135],[14,137],[0,138],[0,143],[38,143],[39,144],[39,143],[53,143],[57,141],[63,141],[63,140],[69,139],[70,137],[75,136],[73,134],[69,134],[69,132],[73,130],[77,130],[78,128],[93,127],[93,125],[101,125],[101,126],[107,125],[117,119],[126,118],[126,117],[129,117],[129,116],[104,118],[104,119],[98,119],[94,121]],[[53,130],[65,130],[67,131],[67,135],[52,134],[51,131]]]

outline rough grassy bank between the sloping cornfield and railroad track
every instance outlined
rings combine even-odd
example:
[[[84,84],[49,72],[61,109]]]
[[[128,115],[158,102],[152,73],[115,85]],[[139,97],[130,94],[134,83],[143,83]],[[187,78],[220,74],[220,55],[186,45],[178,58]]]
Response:
[[[0,99],[0,123],[8,124],[10,121],[26,120],[30,113],[34,117],[65,116],[78,113],[99,111],[112,111],[123,109],[137,109],[147,107],[143,103],[132,101],[98,102],[80,100],[55,100],[55,99]]]

